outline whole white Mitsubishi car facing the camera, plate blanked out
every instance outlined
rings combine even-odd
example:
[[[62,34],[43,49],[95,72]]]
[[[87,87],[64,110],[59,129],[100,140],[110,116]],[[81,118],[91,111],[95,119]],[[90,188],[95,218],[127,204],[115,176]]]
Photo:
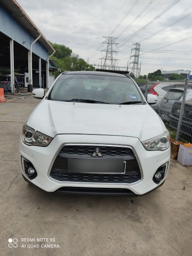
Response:
[[[24,180],[48,192],[144,195],[168,174],[169,133],[128,75],[64,72],[24,124]]]

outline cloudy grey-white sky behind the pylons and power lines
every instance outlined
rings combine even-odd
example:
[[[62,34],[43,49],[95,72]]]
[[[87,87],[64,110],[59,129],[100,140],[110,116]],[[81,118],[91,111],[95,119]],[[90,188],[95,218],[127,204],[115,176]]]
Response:
[[[106,41],[104,37],[118,37],[114,39],[118,45],[113,45],[118,53],[117,56],[114,53],[113,57],[119,60],[116,65],[125,69],[129,61],[129,71],[132,69],[130,62],[134,60],[133,57],[130,60],[130,55],[134,54],[134,51],[131,53],[134,47],[132,44],[150,37],[192,12],[191,0],[17,1],[48,40],[64,44],[85,61],[89,58],[89,64],[101,64],[100,59],[105,58],[106,52],[102,51],[107,48],[107,44],[102,44]],[[173,2],[177,3],[146,26]],[[191,24],[192,15],[189,15],[140,42],[139,63],[142,75],[157,69],[192,71],[192,38],[162,48],[192,36]],[[137,31],[141,32],[134,35]]]

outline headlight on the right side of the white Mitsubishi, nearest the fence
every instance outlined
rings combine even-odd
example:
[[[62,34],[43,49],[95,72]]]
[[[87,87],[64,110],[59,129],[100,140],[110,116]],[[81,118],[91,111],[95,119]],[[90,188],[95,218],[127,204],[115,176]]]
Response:
[[[145,140],[142,142],[146,150],[165,150],[170,143],[170,137],[168,130],[155,138]]]

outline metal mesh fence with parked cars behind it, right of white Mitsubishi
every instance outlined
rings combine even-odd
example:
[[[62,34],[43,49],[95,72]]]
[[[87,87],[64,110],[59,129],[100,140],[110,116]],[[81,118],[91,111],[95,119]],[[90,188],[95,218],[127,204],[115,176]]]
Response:
[[[144,97],[154,94],[158,100],[151,107],[165,123],[171,139],[192,143],[192,80],[146,81]]]

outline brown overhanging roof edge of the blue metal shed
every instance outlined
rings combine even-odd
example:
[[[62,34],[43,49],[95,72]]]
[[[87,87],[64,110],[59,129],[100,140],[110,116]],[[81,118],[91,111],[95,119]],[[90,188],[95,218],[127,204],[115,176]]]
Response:
[[[12,14],[14,19],[21,24],[34,38],[41,35],[38,42],[48,51],[54,51],[46,37],[41,33],[37,26],[32,22],[29,16],[24,12],[23,8],[16,0],[0,0],[0,5]]]

